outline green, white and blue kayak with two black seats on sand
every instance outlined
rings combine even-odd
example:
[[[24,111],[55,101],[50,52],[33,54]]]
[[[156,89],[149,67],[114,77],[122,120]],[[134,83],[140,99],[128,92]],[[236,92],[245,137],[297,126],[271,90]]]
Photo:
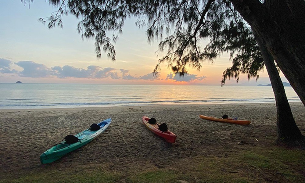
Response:
[[[81,133],[75,135],[77,138],[80,139],[79,142],[73,144],[67,144],[66,141],[63,141],[53,146],[52,148],[48,149],[47,151],[45,151],[40,155],[40,162],[42,164],[52,163],[53,161],[58,160],[67,153],[88,144],[93,139],[101,135],[107,129],[111,121],[112,121],[111,118],[108,118],[98,123],[100,129],[97,131],[91,131],[88,128],[87,130],[84,130]]]

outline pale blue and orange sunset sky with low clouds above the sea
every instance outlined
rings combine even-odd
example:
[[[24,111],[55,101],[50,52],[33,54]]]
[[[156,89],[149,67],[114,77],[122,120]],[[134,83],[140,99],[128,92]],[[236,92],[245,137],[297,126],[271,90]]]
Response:
[[[45,1],[30,7],[20,0],[0,1],[0,83],[220,85],[223,71],[231,66],[225,53],[213,63],[203,62],[200,71],[188,68],[184,77],[173,74],[164,63],[155,77],[152,71],[165,53],[156,52],[159,42],[148,43],[145,27],[138,28],[132,19],[125,21],[114,43],[116,62],[106,53],[97,59],[94,40],[81,39],[74,16],[63,17],[63,28],[48,29],[38,22],[54,11],[56,7]],[[238,84],[231,79],[226,85],[269,83],[264,70],[258,81],[241,75]]]

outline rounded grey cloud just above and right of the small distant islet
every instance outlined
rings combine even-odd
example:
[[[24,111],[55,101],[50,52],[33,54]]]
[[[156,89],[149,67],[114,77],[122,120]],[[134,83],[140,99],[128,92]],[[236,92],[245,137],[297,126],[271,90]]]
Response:
[[[44,64],[39,64],[32,61],[19,61],[15,64],[23,68],[23,71],[18,73],[18,75],[21,77],[38,78],[50,77],[52,75],[52,70]]]

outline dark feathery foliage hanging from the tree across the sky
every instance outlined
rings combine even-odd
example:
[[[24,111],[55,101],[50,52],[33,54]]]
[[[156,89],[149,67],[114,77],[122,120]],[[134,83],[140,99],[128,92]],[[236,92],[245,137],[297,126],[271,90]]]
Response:
[[[222,52],[230,52],[232,60],[232,67],[224,71],[222,85],[233,77],[238,81],[240,73],[258,78],[263,69],[251,30],[228,0],[49,0],[49,4],[57,6],[58,11],[39,20],[53,28],[63,26],[63,15],[76,16],[81,38],[95,39],[98,58],[103,51],[116,60],[113,43],[122,33],[126,18],[133,16],[138,18],[138,26],[147,27],[148,41],[160,41],[158,52],[166,51],[155,74],[166,62],[182,76],[188,66],[200,70],[202,61],[213,62]]]

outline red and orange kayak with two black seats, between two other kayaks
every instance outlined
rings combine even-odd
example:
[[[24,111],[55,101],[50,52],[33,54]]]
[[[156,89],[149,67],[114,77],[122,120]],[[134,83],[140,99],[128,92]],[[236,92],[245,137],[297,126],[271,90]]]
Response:
[[[160,131],[157,123],[149,124],[148,123],[149,117],[143,116],[142,120],[143,120],[143,124],[145,124],[145,126],[150,131],[154,132],[156,135],[159,135],[160,137],[163,137],[167,142],[174,143],[176,141],[177,135],[175,135],[173,132],[168,130],[165,132]]]

